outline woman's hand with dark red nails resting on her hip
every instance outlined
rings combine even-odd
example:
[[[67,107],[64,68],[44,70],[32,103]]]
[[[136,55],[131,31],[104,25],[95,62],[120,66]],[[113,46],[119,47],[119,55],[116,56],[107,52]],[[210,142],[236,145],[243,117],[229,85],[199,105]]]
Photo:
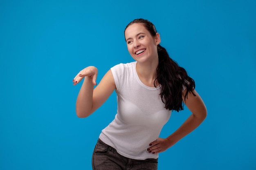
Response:
[[[151,142],[149,144],[149,148],[147,149],[149,153],[157,154],[160,152],[164,152],[167,150],[170,146],[170,141],[168,139],[164,138],[157,138],[157,140]]]

